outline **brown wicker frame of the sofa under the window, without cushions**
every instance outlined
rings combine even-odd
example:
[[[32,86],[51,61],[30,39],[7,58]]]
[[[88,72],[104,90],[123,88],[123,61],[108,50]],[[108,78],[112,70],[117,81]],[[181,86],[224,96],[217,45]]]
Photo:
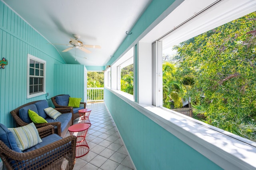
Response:
[[[24,122],[22,119],[20,119],[19,117],[19,110],[22,108],[22,107],[25,107],[25,106],[28,106],[30,104],[34,104],[38,101],[34,101],[34,102],[29,102],[27,104],[24,104],[14,110],[11,111],[11,114],[12,114],[12,117],[14,118],[14,120],[16,121],[16,126],[17,127],[20,127],[20,126],[25,126],[25,125],[28,125],[28,123]],[[73,108],[72,107],[65,107],[65,108],[55,108],[56,110],[58,110],[60,113],[73,113]],[[73,114],[72,114],[73,116]],[[74,118],[72,118],[72,121],[70,122],[70,125],[73,124],[73,120]],[[70,125],[68,125],[64,131],[61,133],[61,123],[60,122],[49,122],[49,123],[40,123],[40,124],[36,124],[35,123],[35,126],[36,128],[38,127],[44,127],[44,126],[47,126],[47,125],[53,125],[54,126],[54,129],[55,129],[55,133],[60,135],[61,137],[64,137],[66,135],[66,132],[68,131],[68,127]]]

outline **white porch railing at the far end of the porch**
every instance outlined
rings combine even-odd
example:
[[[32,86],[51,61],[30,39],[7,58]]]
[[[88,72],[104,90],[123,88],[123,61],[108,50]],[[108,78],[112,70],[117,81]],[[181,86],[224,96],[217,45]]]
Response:
[[[104,101],[104,87],[87,88],[87,102]]]

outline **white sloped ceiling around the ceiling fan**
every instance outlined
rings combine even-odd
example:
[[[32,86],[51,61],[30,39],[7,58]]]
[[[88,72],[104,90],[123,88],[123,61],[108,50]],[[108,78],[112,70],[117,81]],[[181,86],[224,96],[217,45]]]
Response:
[[[54,43],[66,63],[105,66],[152,0],[2,1]],[[62,52],[69,47],[70,38],[74,39],[72,34],[80,35],[83,44],[100,45],[101,49]]]

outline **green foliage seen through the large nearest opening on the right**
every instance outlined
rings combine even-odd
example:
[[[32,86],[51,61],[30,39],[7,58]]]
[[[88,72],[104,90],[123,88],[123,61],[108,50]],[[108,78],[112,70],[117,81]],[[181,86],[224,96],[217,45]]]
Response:
[[[190,97],[203,121],[256,141],[255,29],[253,12],[174,46],[178,62],[163,64],[165,106]]]

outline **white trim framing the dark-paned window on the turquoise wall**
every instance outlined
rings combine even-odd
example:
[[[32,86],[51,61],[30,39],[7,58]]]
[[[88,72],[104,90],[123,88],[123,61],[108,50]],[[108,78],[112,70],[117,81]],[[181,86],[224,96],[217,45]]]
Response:
[[[30,59],[34,60],[34,61],[38,61],[40,63],[44,63],[44,81],[43,81],[43,92],[39,92],[39,93],[35,93],[35,94],[29,94],[29,78],[30,78],[30,75],[29,75],[29,68],[30,68]],[[42,60],[42,59],[39,59],[33,55],[30,55],[28,54],[28,65],[27,65],[27,99],[29,98],[34,98],[36,96],[41,96],[41,95],[44,95],[46,94],[46,61]]]

